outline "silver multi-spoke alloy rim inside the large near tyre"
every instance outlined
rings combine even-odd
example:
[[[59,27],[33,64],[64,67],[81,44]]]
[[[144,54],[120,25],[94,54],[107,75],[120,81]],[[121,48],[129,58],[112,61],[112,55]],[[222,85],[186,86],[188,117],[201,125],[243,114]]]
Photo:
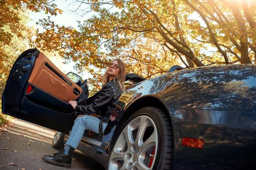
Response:
[[[149,116],[132,119],[114,145],[109,170],[152,170],[158,148],[156,125]]]

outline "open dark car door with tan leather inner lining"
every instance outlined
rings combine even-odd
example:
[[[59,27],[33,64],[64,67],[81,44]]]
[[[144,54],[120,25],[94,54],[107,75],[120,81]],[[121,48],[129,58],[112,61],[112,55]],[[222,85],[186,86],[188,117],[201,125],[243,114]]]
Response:
[[[68,133],[75,111],[68,103],[82,88],[39,50],[24,51],[14,63],[2,96],[2,112]]]

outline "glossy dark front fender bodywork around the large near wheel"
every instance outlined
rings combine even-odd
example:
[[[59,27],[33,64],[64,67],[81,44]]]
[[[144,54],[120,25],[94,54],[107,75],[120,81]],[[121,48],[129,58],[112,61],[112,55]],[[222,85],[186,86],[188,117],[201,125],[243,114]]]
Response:
[[[143,81],[120,97],[124,110],[105,130],[103,148],[109,153],[113,129],[129,114],[161,102],[173,126],[174,169],[255,168],[255,89],[255,65],[186,69]],[[204,140],[204,148],[182,146],[184,136]]]

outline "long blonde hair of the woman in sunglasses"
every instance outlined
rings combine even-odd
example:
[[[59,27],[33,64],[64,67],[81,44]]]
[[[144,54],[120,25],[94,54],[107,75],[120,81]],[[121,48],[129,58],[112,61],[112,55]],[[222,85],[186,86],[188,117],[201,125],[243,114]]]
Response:
[[[117,64],[119,67],[119,73],[114,77],[114,82],[120,86],[122,91],[125,91],[124,82],[126,80],[126,65],[123,63],[123,61],[120,58],[116,58],[113,61],[117,61]],[[106,84],[109,81],[109,74],[107,73],[107,71],[104,73],[103,79],[104,79],[104,84]]]

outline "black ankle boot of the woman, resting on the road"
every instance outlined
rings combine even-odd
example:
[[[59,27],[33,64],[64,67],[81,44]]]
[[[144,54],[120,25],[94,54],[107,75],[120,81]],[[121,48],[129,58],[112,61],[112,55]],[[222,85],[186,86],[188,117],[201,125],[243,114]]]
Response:
[[[54,153],[51,155],[44,155],[43,160],[53,163],[55,165],[63,166],[65,168],[71,167],[71,155],[74,152],[75,148],[70,145],[65,145],[64,148],[59,153]]]

